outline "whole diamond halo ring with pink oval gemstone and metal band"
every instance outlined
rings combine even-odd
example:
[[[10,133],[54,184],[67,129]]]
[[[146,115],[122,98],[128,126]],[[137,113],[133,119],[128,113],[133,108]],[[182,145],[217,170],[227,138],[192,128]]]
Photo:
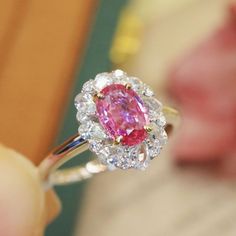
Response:
[[[167,143],[178,112],[162,106],[153,90],[122,70],[98,74],[75,98],[78,134],[55,148],[39,165],[47,187],[65,185],[106,170],[144,170]],[[84,166],[59,169],[78,154],[97,155]]]

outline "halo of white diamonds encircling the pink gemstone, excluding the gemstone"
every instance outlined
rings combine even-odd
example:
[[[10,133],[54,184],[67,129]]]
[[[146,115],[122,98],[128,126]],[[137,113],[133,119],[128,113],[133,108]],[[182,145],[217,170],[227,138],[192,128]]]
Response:
[[[96,115],[94,95],[111,84],[130,84],[132,89],[142,98],[148,109],[149,123],[152,131],[148,137],[136,146],[114,144]],[[122,70],[98,74],[94,80],[87,81],[81,93],[75,97],[77,120],[80,123],[78,132],[89,142],[89,149],[96,153],[98,159],[110,170],[145,169],[150,160],[160,154],[167,143],[165,131],[166,119],[162,113],[162,104],[154,97],[153,90],[140,79],[128,76]]]

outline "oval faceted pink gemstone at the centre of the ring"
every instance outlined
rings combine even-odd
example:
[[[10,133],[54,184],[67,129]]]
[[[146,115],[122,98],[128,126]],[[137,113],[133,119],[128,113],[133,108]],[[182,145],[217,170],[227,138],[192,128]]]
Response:
[[[122,136],[122,144],[133,146],[141,143],[147,132],[147,109],[142,99],[132,89],[121,84],[105,87],[104,98],[97,99],[97,115],[101,125],[111,138]]]

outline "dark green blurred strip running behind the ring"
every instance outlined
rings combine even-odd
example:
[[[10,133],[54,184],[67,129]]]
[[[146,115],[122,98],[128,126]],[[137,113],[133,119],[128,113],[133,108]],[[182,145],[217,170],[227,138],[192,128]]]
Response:
[[[94,19],[92,32],[85,49],[85,56],[82,64],[78,67],[78,72],[75,75],[73,91],[68,101],[68,108],[66,115],[58,136],[57,144],[61,143],[71,135],[73,135],[77,128],[74,108],[74,97],[79,91],[85,81],[94,78],[97,73],[103,71],[110,71],[111,63],[109,60],[109,49],[112,44],[114,32],[116,30],[117,21],[119,19],[120,11],[127,0],[101,0],[99,2],[98,10]],[[86,160],[88,153],[84,154]],[[78,158],[75,158],[78,159]],[[76,165],[81,163],[80,160],[74,160],[69,165]],[[77,221],[78,212],[83,203],[83,193],[86,183],[74,184],[71,186],[64,186],[56,188],[56,191],[62,200],[62,213],[57,220],[51,224],[47,231],[47,236],[72,236],[74,232],[74,224]]]

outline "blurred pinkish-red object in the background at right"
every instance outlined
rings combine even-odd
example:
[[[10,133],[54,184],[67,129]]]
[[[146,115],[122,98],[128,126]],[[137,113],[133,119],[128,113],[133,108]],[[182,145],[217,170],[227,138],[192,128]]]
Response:
[[[236,7],[226,23],[180,59],[168,89],[183,122],[173,152],[177,160],[236,156]]]

